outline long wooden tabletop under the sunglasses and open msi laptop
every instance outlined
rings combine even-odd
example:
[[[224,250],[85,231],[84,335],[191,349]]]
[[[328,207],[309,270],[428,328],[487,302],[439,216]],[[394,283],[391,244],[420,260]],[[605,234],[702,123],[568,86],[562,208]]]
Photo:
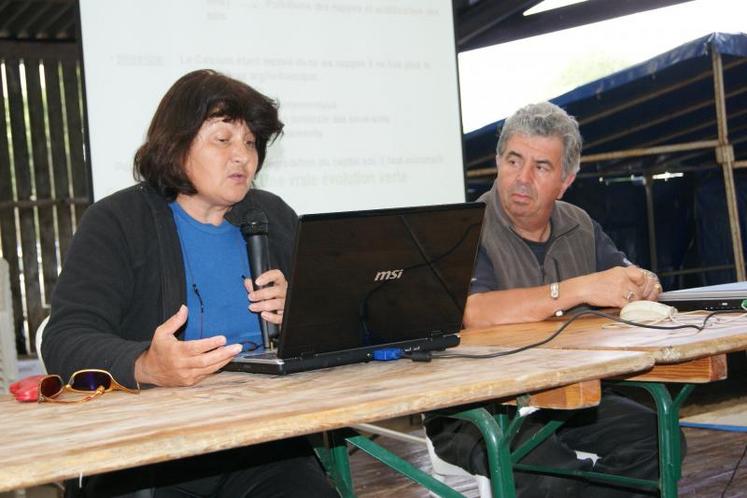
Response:
[[[650,355],[637,352],[534,350],[287,377],[223,372],[190,388],[112,392],[71,405],[0,396],[0,491],[513,397],[652,364]]]

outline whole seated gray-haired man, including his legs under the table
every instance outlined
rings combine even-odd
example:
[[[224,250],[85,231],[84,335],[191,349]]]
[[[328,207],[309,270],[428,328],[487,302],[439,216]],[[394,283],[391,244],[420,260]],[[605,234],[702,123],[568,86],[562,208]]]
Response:
[[[560,201],[579,169],[578,123],[558,106],[526,106],[504,123],[494,187],[467,300],[466,327],[538,321],[581,304],[622,307],[657,298],[656,276],[630,263],[582,209]],[[658,476],[656,414],[605,391],[599,407],[542,411],[527,418],[515,441],[547,420],[564,426],[522,462],[595,470],[641,479]],[[469,423],[434,418],[426,430],[436,452],[472,473],[488,475],[485,445]],[[579,460],[576,451],[599,456]],[[538,474],[516,474],[520,497],[648,496],[621,487]]]

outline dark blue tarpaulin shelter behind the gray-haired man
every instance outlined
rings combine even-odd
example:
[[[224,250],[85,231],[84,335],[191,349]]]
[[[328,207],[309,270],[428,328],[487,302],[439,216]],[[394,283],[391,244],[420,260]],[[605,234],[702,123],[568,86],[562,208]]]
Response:
[[[650,60],[560,95],[552,102],[575,116],[584,156],[716,140],[712,52],[721,55],[729,143],[747,160],[747,35],[712,33]],[[521,103],[517,103],[517,107]],[[503,120],[465,135],[467,171],[494,167],[497,130]],[[669,172],[685,176],[654,183],[657,270],[733,264],[721,169],[713,147],[686,152],[584,162],[566,194],[595,216],[631,259],[652,263],[642,181],[625,177]],[[604,177],[605,180],[600,180]],[[747,177],[735,171],[743,241],[747,239]],[[473,196],[492,177],[470,177]],[[621,209],[623,208],[623,209]],[[671,278],[669,288],[733,280],[725,269]]]

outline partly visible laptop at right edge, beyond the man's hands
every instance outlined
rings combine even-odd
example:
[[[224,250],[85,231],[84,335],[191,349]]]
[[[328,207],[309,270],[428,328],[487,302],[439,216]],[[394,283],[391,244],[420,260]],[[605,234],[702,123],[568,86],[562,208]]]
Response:
[[[659,294],[660,302],[674,306],[679,311],[741,310],[745,300],[747,282],[694,287]]]

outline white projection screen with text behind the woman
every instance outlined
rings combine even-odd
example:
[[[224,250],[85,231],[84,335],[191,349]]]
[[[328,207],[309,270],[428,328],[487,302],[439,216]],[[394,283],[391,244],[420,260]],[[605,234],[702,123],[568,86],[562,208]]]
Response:
[[[464,201],[451,0],[80,0],[93,193],[133,183],[158,101],[212,68],[286,124],[255,184],[299,213]]]

